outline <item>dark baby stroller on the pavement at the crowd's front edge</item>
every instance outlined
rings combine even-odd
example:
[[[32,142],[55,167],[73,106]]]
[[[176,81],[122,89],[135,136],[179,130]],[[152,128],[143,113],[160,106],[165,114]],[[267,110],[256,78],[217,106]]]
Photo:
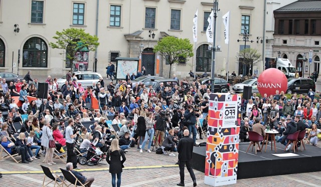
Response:
[[[101,160],[106,158],[106,154],[102,152],[99,148],[96,148],[94,144],[90,144],[87,149],[87,154],[79,157],[79,163],[81,165],[93,166],[98,164]]]

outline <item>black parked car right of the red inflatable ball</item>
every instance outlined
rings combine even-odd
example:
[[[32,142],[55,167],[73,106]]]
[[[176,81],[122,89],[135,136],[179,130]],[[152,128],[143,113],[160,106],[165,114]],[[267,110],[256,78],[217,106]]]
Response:
[[[315,83],[310,78],[289,78],[287,80],[286,93],[302,93],[307,94],[312,89],[315,92]]]

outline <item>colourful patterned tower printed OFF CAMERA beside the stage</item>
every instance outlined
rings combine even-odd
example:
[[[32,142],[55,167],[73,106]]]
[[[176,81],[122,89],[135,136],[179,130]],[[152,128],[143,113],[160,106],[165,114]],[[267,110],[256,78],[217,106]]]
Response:
[[[241,95],[210,94],[204,183],[236,183],[241,120]]]

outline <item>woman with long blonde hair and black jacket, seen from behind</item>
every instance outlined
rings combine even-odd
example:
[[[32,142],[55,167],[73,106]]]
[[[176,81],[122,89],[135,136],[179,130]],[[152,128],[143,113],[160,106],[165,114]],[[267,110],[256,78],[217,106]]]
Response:
[[[121,157],[121,159],[120,159]],[[111,185],[116,186],[117,174],[117,187],[121,184],[121,172],[124,167],[123,163],[126,161],[124,151],[120,149],[118,139],[113,139],[109,150],[107,151],[106,161],[109,164],[109,172],[111,173]]]

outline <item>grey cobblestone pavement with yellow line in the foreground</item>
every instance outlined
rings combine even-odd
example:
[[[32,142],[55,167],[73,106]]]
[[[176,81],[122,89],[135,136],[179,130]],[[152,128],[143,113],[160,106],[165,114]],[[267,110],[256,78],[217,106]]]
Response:
[[[198,143],[202,142],[197,141]],[[125,156],[126,161],[122,172],[121,186],[176,186],[176,183],[180,181],[179,168],[178,165],[175,165],[178,160],[177,154],[176,156],[169,156],[146,151],[139,153],[136,148],[130,148]],[[29,164],[17,164],[11,158],[1,160],[0,172],[3,173],[3,178],[0,181],[4,181],[2,184],[5,184],[2,186],[25,186],[26,184],[28,186],[41,186],[44,177],[40,167],[42,160],[43,157]],[[57,165],[50,166],[53,170],[59,172],[59,167],[64,168],[65,164],[61,160],[54,159],[54,161]],[[104,164],[95,166],[78,164],[81,167],[79,171],[85,176],[95,177],[93,187],[111,186],[111,175],[108,172],[109,165],[106,161],[102,161],[102,163]],[[280,168],[276,166],[275,169]],[[194,172],[198,186],[209,186],[204,184],[204,173],[197,170],[194,170]],[[185,185],[193,186],[187,169],[185,169]],[[240,179],[237,180],[237,184],[229,186],[321,186],[321,171]]]

